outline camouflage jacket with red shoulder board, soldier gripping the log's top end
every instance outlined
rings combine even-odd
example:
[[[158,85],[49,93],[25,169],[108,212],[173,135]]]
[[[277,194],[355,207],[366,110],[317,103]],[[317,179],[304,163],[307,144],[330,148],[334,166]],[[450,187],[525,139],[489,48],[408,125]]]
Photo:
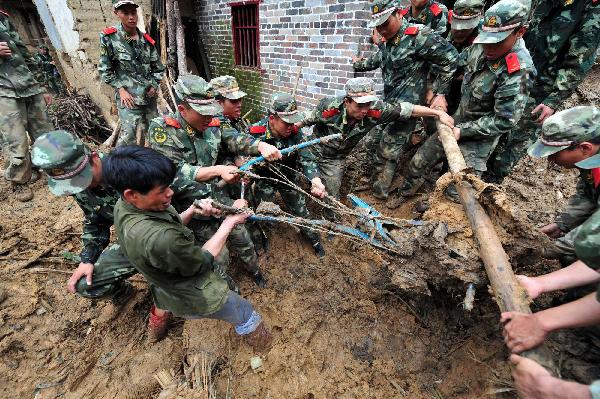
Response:
[[[496,61],[488,61],[483,46],[473,45],[465,57],[461,99],[454,114],[461,140],[483,140],[508,133],[523,115],[533,62],[522,40]]]

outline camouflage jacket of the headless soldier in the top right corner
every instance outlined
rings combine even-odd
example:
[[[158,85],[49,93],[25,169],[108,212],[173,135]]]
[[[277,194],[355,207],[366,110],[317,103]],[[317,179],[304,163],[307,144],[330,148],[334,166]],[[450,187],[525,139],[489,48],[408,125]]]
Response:
[[[538,1],[525,43],[538,77],[531,96],[553,109],[573,94],[594,61],[600,44],[600,2]]]

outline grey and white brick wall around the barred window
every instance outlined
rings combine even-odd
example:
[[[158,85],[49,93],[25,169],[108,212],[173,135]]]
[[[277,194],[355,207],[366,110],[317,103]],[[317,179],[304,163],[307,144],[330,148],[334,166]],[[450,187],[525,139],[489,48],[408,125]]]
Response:
[[[293,89],[299,65],[300,106],[311,107],[322,97],[342,94],[345,82],[354,77],[351,57],[370,33],[367,1],[264,0],[259,5],[260,68],[238,67],[233,60],[231,1],[195,1],[214,76],[236,76],[250,94],[246,107],[260,112],[272,93]],[[361,50],[371,47],[362,45]]]

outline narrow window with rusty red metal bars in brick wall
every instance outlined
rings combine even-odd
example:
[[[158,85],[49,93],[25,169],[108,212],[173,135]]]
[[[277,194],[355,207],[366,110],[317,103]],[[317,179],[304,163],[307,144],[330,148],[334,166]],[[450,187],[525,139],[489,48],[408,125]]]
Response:
[[[260,66],[258,23],[258,1],[231,4],[235,65]]]

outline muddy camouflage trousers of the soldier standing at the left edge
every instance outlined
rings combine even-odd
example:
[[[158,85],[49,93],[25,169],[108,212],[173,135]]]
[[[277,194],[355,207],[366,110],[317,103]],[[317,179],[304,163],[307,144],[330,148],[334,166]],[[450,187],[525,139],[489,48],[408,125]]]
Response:
[[[0,97],[0,131],[6,180],[21,184],[29,181],[29,140],[33,142],[51,130],[54,130],[54,126],[48,118],[42,94],[25,98]]]

